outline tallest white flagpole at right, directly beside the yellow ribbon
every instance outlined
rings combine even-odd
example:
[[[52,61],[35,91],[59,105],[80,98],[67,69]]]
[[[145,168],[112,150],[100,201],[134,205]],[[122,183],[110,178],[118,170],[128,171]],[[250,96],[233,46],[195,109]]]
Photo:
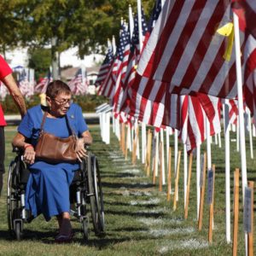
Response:
[[[235,27],[235,45],[236,45],[236,81],[237,81],[237,97],[238,97],[238,118],[239,118],[239,135],[241,147],[241,183],[242,195],[244,198],[244,189],[247,186],[247,158],[245,147],[245,132],[244,132],[244,117],[243,117],[243,100],[242,100],[242,84],[241,84],[241,51],[240,51],[240,37],[239,37],[239,21],[237,15],[234,13],[234,27]]]

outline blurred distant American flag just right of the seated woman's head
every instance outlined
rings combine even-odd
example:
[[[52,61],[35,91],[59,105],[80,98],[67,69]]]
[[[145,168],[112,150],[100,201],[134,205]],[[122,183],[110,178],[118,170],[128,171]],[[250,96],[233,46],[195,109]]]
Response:
[[[73,79],[68,83],[73,95],[84,95],[88,88],[84,67],[80,67]]]

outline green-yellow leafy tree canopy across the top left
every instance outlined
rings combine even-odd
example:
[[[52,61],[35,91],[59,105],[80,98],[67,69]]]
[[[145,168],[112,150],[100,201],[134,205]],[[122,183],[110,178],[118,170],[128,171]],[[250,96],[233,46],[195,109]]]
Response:
[[[148,17],[155,0],[143,0]],[[137,0],[2,0],[0,1],[0,47],[21,44],[50,46],[51,58],[73,46],[79,56],[104,51],[107,38],[119,36],[121,17],[128,20],[128,6],[137,12]]]

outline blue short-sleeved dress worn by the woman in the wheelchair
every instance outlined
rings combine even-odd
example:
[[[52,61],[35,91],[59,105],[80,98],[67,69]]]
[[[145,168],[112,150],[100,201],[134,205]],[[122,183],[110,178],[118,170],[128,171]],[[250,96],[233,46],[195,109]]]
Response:
[[[40,105],[33,107],[27,111],[18,127],[22,135],[32,139],[34,146],[38,141],[43,115]],[[78,137],[88,130],[82,110],[77,104],[71,105],[67,118]],[[46,118],[44,131],[57,137],[70,136],[65,117]],[[49,164],[38,160],[29,168],[31,174],[26,184],[26,209],[32,212],[33,217],[43,213],[48,221],[61,212],[69,212],[69,185],[72,183],[74,172],[79,169],[79,164]]]

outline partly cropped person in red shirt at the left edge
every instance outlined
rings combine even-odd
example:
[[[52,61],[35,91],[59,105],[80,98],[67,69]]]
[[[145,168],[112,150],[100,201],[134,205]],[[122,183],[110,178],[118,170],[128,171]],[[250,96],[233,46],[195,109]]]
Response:
[[[10,95],[13,97],[15,104],[19,108],[21,118],[26,114],[26,104],[21,95],[20,89],[15,83],[12,76],[12,70],[0,55],[0,80],[8,88]],[[3,173],[4,173],[4,156],[5,156],[5,139],[4,126],[6,122],[3,115],[3,109],[0,104],[0,195],[3,188]]]

